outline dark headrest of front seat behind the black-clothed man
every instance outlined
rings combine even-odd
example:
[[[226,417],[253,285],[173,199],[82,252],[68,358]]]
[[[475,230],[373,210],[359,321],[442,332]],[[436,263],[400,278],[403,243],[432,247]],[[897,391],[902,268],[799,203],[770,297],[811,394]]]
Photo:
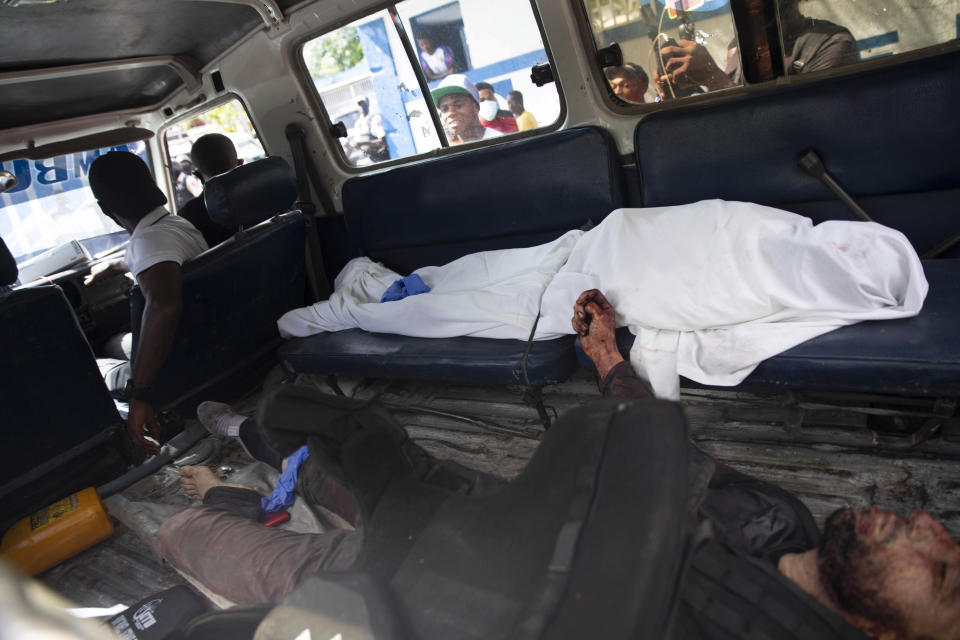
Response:
[[[210,219],[228,229],[283,213],[297,199],[297,176],[279,156],[240,165],[203,185]]]

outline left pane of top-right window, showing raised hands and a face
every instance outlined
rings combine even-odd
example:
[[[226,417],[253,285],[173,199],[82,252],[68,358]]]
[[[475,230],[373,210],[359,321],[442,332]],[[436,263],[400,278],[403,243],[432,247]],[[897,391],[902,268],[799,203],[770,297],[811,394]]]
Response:
[[[597,47],[618,43],[604,69],[623,102],[676,100],[743,84],[728,0],[584,0]]]

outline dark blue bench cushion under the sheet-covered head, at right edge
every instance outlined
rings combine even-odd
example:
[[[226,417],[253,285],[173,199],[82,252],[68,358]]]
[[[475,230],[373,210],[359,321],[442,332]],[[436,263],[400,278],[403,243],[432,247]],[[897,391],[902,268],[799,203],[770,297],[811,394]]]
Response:
[[[904,396],[960,395],[960,260],[923,263],[930,292],[923,311],[904,320],[841,327],[760,363],[742,384]],[[633,334],[617,330],[629,358]],[[593,364],[579,341],[584,368]]]

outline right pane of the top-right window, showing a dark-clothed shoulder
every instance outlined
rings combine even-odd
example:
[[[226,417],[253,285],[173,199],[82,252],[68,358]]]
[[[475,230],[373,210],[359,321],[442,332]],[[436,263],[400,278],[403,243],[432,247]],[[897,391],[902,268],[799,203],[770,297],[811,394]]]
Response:
[[[960,37],[960,0],[778,0],[787,74],[882,58]]]

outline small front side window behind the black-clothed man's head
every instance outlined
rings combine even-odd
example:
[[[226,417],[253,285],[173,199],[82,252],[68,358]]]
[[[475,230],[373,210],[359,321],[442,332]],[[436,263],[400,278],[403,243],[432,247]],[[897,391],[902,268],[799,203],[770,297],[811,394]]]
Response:
[[[190,160],[190,148],[208,133],[220,133],[230,138],[237,149],[237,158],[243,162],[259,160],[267,155],[250,116],[236,98],[170,126],[164,132],[163,139],[170,159],[168,171],[177,211],[203,191],[203,184],[195,175]]]

